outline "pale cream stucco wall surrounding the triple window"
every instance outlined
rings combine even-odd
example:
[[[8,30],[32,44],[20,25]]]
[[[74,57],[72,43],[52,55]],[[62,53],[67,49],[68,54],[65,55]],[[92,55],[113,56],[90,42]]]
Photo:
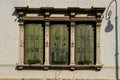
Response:
[[[19,54],[19,26],[13,15],[14,7],[105,7],[112,0],[0,0],[0,78],[64,78],[115,79],[115,3],[110,6],[113,29],[106,32],[106,10],[101,25],[101,71],[94,70],[15,70]],[[118,2],[118,52],[120,53],[120,0]],[[118,55],[120,58],[120,54]],[[120,59],[119,77],[120,77]]]

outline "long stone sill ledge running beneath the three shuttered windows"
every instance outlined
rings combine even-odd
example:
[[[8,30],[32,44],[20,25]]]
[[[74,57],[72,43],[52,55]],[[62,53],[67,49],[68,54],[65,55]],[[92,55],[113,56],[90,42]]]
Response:
[[[41,65],[41,64],[16,64],[17,70],[97,70],[100,71],[102,64],[97,65]]]

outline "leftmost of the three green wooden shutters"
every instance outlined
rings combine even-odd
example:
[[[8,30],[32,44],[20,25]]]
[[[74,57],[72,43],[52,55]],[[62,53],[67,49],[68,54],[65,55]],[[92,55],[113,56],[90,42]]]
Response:
[[[43,63],[42,24],[31,23],[25,25],[25,63],[28,62]]]

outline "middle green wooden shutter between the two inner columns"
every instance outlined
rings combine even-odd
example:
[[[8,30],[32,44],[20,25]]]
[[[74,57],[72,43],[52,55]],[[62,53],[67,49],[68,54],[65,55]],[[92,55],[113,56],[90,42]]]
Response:
[[[69,32],[66,24],[51,25],[51,64],[68,64]]]

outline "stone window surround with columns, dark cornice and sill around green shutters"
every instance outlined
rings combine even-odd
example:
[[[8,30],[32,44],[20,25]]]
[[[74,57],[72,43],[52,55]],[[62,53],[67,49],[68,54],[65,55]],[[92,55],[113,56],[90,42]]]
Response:
[[[102,22],[102,14],[105,8],[53,8],[53,7],[41,7],[41,8],[29,8],[29,7],[15,7],[17,12],[19,31],[20,31],[20,53],[17,63],[18,69],[23,68],[43,68],[43,69],[96,69],[102,68],[100,61],[100,26]],[[45,60],[44,65],[29,65],[24,64],[24,23],[25,21],[43,21],[45,23]],[[50,64],[50,22],[51,21],[67,21],[70,22],[70,64],[69,65],[51,65]],[[94,22],[96,27],[96,63],[94,65],[76,65],[75,64],[75,23],[76,22]]]

